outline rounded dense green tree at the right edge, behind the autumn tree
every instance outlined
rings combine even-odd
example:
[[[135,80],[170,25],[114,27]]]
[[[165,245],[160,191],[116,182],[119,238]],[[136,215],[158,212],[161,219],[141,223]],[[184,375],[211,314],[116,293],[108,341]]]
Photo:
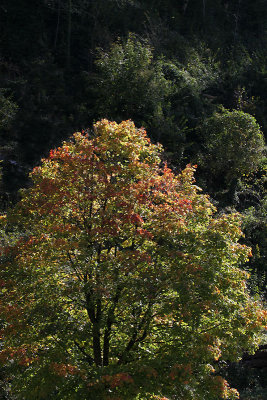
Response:
[[[259,168],[264,156],[264,137],[256,119],[243,111],[216,112],[200,128],[204,151],[203,169],[210,186],[229,188],[238,178]]]

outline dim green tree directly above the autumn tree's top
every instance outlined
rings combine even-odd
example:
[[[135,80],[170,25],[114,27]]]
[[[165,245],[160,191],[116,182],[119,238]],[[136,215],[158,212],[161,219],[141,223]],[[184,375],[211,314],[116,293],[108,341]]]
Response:
[[[130,34],[126,43],[118,41],[108,53],[101,51],[96,65],[95,114],[120,121],[131,116],[159,136],[172,90],[148,44]]]

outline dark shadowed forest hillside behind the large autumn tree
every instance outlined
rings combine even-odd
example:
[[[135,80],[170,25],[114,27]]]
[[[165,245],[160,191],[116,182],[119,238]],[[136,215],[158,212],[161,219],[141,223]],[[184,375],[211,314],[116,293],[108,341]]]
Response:
[[[132,119],[174,170],[198,165],[219,212],[244,215],[250,289],[266,299],[266,89],[266,0],[2,0],[1,209],[73,132]],[[264,399],[266,357],[249,364],[225,374]]]

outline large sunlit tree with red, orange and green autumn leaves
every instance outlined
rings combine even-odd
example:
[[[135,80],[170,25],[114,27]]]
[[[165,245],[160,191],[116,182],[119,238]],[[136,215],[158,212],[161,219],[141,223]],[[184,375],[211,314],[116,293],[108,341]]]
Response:
[[[51,150],[2,217],[16,399],[237,398],[218,360],[253,351],[266,322],[239,269],[250,249],[239,216],[214,216],[194,167],[174,175],[161,150],[102,120]]]

